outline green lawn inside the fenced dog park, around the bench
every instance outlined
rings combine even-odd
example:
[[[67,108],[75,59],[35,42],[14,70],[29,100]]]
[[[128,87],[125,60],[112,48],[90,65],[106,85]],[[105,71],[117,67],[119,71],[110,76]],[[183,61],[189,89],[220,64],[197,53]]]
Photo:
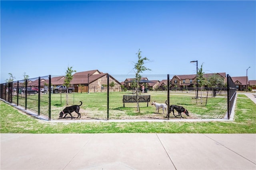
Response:
[[[147,107],[147,103],[140,103],[140,113],[136,108],[136,103],[125,103],[123,107],[123,95],[132,95],[131,91],[126,92],[110,92],[109,94],[109,119],[166,119],[165,114],[157,114],[156,108]],[[165,103],[167,99],[167,91],[149,91],[143,95],[150,95],[150,101]],[[222,92],[216,97],[212,97],[211,91],[202,91],[202,104],[200,99],[194,99],[194,91],[170,91],[170,105],[181,105],[186,108],[190,116],[186,119],[214,119],[224,118],[227,111],[226,93]],[[13,101],[17,97],[13,97]],[[48,95],[40,95],[40,114],[48,115]],[[68,94],[69,105],[79,105],[79,101],[83,102],[80,107],[81,119],[107,119],[107,93],[71,93]],[[58,93],[51,95],[51,119],[58,120],[61,110],[66,107],[66,93]],[[19,105],[25,105],[24,96],[20,95]],[[38,95],[28,96],[28,109],[38,112]],[[162,110],[160,110],[162,113]],[[76,117],[76,113],[73,113]],[[170,115],[170,119],[176,119]]]

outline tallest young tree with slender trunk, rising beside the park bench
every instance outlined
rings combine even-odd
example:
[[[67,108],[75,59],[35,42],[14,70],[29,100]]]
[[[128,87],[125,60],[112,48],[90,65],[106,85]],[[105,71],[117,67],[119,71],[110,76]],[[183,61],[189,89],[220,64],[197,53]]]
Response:
[[[137,63],[134,63],[134,72],[136,73],[136,81],[134,81],[135,86],[136,86],[136,99],[137,99],[137,111],[140,113],[140,107],[139,107],[139,101],[138,101],[138,89],[139,89],[139,83],[140,83],[140,79],[141,79],[141,73],[143,73],[143,71],[146,70],[151,70],[148,69],[147,67],[144,66],[145,61],[150,61],[147,57],[142,57],[141,55],[142,51],[138,51],[138,53],[136,53],[138,55],[138,61]]]

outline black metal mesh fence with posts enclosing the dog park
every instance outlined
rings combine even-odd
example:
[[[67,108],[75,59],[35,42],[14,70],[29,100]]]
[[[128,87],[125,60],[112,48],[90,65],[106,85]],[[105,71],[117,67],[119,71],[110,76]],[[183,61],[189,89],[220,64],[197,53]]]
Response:
[[[48,120],[60,120],[65,107],[80,101],[81,118],[73,112],[74,120],[181,119],[176,110],[168,115],[166,104],[184,107],[189,113],[182,112],[184,119],[229,119],[235,97],[229,75],[206,76],[203,84],[195,75],[142,75],[138,89],[135,75],[79,75],[68,88],[64,79],[49,75],[2,83],[0,96]]]

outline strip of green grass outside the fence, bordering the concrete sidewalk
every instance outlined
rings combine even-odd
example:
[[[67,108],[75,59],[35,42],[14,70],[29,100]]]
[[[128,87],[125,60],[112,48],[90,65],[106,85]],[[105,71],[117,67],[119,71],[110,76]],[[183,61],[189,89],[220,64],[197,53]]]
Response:
[[[96,101],[95,101],[96,102]],[[92,105],[93,106],[93,105]],[[84,107],[92,107],[85,105]],[[1,133],[256,133],[256,105],[236,100],[234,121],[228,122],[44,122],[0,101]]]

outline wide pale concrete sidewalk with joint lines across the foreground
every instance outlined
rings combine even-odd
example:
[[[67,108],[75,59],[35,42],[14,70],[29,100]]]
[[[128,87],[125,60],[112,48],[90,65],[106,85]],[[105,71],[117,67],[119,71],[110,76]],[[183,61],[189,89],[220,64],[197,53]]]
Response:
[[[1,170],[255,170],[256,134],[0,134]]]

